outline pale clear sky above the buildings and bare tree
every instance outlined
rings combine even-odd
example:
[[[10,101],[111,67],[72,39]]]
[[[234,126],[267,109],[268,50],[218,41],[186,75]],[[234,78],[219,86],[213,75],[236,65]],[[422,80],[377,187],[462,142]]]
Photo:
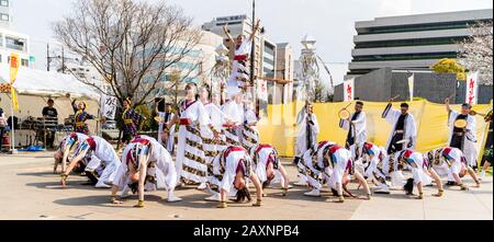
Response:
[[[13,28],[31,36],[36,68],[46,68],[50,23],[70,13],[71,0],[11,0]],[[148,0],[158,1],[158,0]],[[194,18],[194,24],[215,16],[250,14],[251,0],[168,0]],[[257,0],[258,16],[274,42],[290,42],[300,51],[300,39],[311,33],[317,51],[328,62],[351,60],[355,21],[378,16],[492,9],[492,0]],[[344,72],[344,71],[340,71]],[[340,76],[339,73],[335,76]],[[337,77],[339,79],[340,77]]]

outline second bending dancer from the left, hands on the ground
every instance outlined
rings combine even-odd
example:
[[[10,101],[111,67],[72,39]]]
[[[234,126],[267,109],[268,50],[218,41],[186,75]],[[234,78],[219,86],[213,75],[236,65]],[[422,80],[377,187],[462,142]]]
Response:
[[[126,186],[138,193],[136,208],[144,207],[144,191],[166,188],[168,203],[180,201],[173,191],[177,185],[177,171],[170,153],[154,138],[136,137],[122,153],[122,165],[113,181],[112,204],[122,204],[116,193]]]

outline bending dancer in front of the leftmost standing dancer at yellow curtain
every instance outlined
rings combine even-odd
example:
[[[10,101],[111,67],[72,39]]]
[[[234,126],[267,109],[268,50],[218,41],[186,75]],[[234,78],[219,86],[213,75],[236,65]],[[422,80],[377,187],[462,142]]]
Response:
[[[307,150],[299,162],[299,172],[306,177],[308,186],[313,188],[305,196],[321,196],[323,184],[327,183],[334,194],[338,196],[338,203],[344,203],[343,191],[350,182],[349,175],[353,175],[363,186],[367,198],[370,199],[371,192],[364,177],[360,172],[353,170],[353,162],[349,150],[335,142],[322,141],[316,147]]]

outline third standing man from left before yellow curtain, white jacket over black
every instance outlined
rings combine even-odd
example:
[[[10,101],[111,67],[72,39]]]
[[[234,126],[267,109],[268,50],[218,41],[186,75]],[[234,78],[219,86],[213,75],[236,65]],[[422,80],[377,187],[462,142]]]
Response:
[[[392,125],[386,143],[388,154],[413,149],[416,145],[417,128],[414,115],[408,113],[408,108],[407,103],[402,103],[401,111],[394,110],[390,102],[382,114],[382,118],[385,118]]]

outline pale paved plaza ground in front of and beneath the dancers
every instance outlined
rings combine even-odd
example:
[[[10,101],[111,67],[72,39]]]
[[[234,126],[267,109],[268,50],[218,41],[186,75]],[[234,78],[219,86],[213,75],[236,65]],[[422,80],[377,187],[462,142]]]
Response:
[[[296,169],[284,163],[295,181]],[[209,195],[193,187],[180,188],[177,195],[184,200],[167,204],[165,191],[148,193],[146,207],[133,208],[136,197],[123,205],[109,203],[109,189],[96,189],[83,185],[86,177],[70,176],[69,187],[60,188],[59,176],[54,175],[53,153],[20,153],[0,157],[0,219],[29,220],[367,220],[367,219],[493,219],[493,180],[485,178],[481,188],[461,192],[447,188],[442,198],[433,197],[434,187],[426,187],[424,200],[411,199],[401,191],[391,195],[375,195],[372,200],[347,199],[345,204],[330,203],[325,193],[321,198],[304,197],[303,187],[294,187],[288,197],[279,189],[268,189],[261,208],[248,204],[231,205],[216,209],[214,203],[205,201]],[[469,177],[465,182],[473,186]],[[353,184],[351,188],[357,188]],[[362,194],[362,191],[355,192]],[[362,194],[363,195],[363,194]]]

